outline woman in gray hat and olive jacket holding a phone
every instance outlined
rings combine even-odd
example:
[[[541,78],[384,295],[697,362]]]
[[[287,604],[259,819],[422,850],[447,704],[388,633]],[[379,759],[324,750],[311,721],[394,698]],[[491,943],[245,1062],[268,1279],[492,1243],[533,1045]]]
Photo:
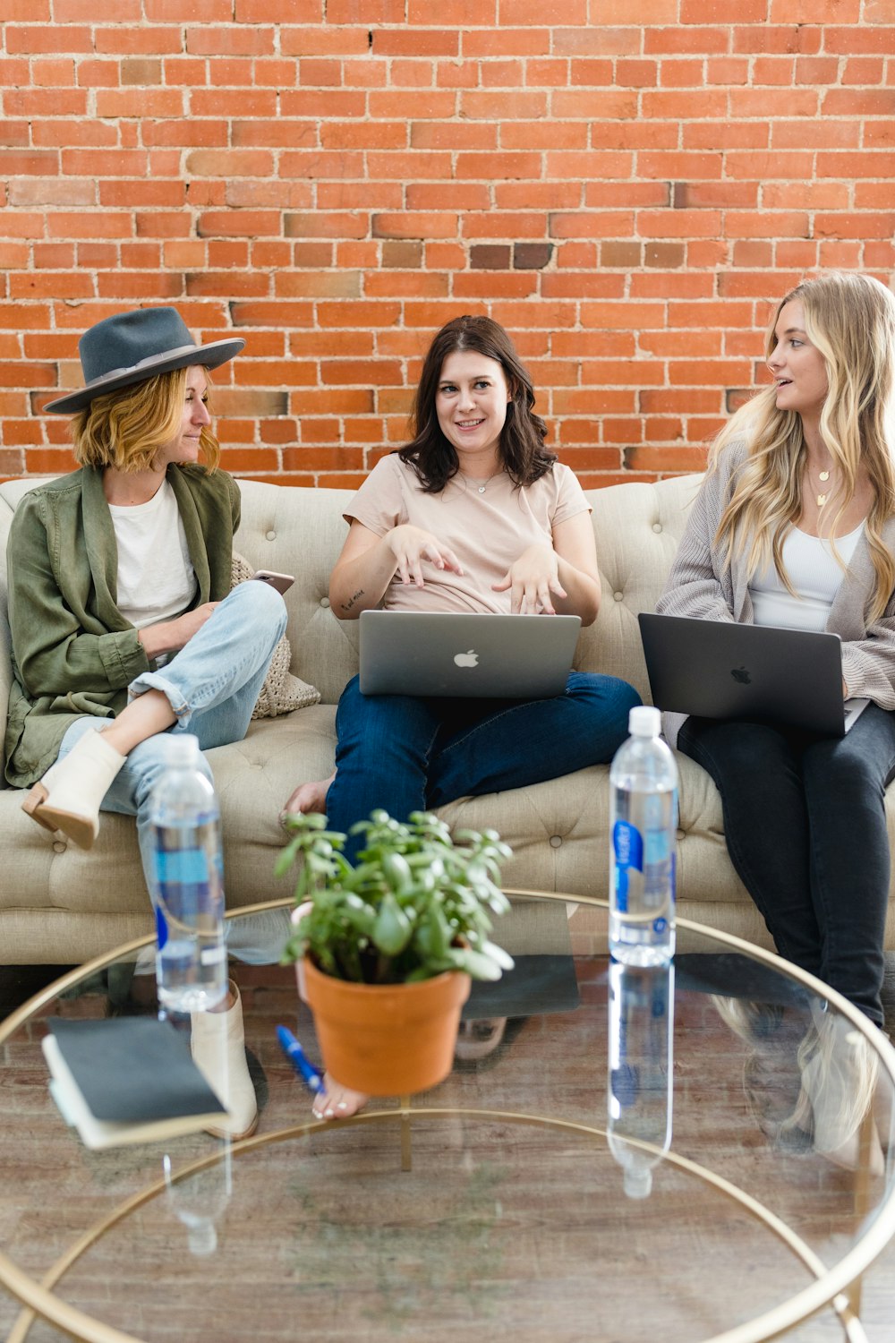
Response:
[[[31,790],[34,821],[85,849],[101,811],[136,815],[150,888],[165,735],[195,733],[203,751],[240,740],[286,627],[267,584],[229,591],[240,496],[217,470],[208,369],[243,345],[197,345],[173,308],[91,326],[85,387],[46,407],[75,415],[79,470],[25,494],[9,530],[7,782]],[[255,1096],[239,1002],[225,1006],[238,1048],[221,1099],[242,1135]]]

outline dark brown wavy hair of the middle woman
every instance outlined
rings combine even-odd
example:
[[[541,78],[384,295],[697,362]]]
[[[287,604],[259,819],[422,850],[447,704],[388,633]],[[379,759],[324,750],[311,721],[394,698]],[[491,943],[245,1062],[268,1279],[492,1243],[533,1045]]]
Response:
[[[455,317],[429,345],[413,400],[413,441],[400,449],[399,457],[413,467],[427,494],[439,494],[456,475],[456,450],[441,432],[435,410],[441,367],[456,349],[475,351],[501,364],[511,392],[501,434],[501,465],[515,485],[531,485],[550,470],[557,458],[556,453],[543,447],[547,426],[533,411],[534,388],[529,371],[507,333],[490,317]]]

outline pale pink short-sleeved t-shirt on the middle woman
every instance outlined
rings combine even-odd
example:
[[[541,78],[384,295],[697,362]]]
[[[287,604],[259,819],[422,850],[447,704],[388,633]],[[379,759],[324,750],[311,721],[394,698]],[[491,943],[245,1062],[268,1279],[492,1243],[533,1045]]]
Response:
[[[427,494],[412,466],[392,453],[382,457],[352,500],[345,521],[357,518],[370,532],[385,536],[409,522],[450,547],[463,575],[425,564],[425,587],[392,579],[382,604],[389,611],[510,610],[510,591],[492,592],[510,565],[529,545],[553,544],[553,528],[578,513],[589,513],[578,479],[568,466],[551,470],[518,489],[502,471],[483,494],[472,481],[455,475],[440,494]]]

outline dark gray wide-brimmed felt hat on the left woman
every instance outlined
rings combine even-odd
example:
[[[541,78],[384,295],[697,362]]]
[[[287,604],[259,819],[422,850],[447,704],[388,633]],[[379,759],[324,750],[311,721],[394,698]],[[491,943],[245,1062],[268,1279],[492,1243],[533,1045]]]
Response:
[[[54,415],[82,411],[94,396],[145,383],[173,368],[219,368],[246,344],[239,337],[197,345],[176,308],[138,308],[106,317],[78,341],[85,387],[44,406]]]

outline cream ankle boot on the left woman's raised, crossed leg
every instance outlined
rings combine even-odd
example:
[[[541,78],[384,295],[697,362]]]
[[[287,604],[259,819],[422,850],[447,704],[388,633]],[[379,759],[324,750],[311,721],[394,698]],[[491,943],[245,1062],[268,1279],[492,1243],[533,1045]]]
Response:
[[[81,849],[93,849],[99,834],[99,806],[125,763],[102,732],[85,732],[63,760],[56,760],[21,803],[44,830],[63,830]]]

